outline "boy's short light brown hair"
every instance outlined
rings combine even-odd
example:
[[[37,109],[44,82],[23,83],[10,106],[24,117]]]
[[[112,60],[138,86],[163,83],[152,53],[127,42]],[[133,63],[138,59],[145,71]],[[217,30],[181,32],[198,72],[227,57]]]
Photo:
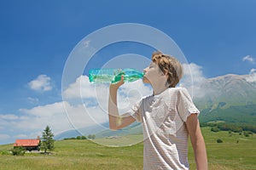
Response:
[[[152,54],[152,61],[159,66],[160,71],[168,76],[166,85],[169,88],[175,88],[183,77],[183,66],[180,62],[170,55],[162,54],[160,51]]]

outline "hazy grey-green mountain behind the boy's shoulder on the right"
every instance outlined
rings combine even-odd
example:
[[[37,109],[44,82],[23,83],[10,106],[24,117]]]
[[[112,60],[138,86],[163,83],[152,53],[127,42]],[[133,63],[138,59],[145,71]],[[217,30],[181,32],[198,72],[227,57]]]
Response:
[[[202,97],[195,97],[201,122],[256,123],[256,82],[252,75],[228,74],[201,83]]]

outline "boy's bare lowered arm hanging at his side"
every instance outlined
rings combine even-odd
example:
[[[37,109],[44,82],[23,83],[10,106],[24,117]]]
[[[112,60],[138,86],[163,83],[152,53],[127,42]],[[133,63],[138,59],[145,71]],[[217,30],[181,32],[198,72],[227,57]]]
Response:
[[[201,134],[201,128],[196,114],[191,114],[186,122],[191,144],[195,154],[197,170],[207,170],[207,149]]]

